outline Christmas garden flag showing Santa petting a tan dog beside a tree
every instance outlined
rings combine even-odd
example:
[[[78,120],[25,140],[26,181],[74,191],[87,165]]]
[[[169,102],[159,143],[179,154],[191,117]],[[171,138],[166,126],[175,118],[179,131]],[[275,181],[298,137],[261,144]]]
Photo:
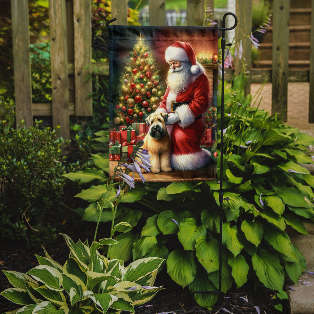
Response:
[[[109,35],[110,176],[143,140],[146,181],[215,180],[218,28],[109,25]]]

